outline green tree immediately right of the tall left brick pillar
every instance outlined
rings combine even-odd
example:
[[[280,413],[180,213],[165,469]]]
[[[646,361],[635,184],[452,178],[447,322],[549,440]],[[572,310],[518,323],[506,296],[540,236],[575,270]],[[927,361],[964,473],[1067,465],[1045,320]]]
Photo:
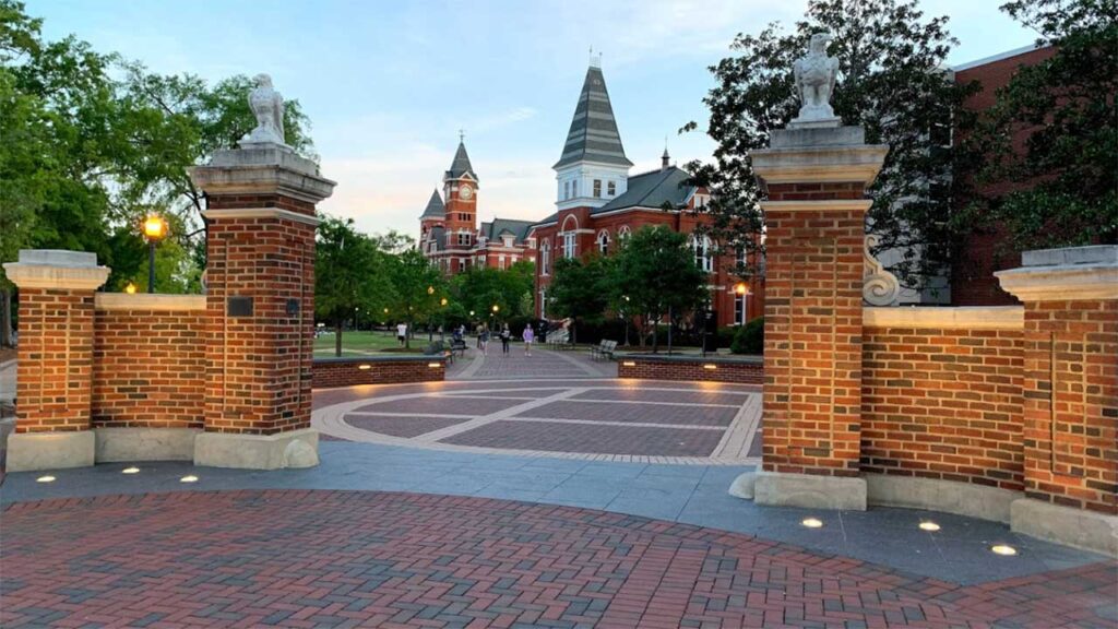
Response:
[[[325,217],[319,225],[314,262],[314,313],[333,323],[334,356],[342,329],[358,309],[379,311],[392,301],[385,254],[353,228],[353,219]]]

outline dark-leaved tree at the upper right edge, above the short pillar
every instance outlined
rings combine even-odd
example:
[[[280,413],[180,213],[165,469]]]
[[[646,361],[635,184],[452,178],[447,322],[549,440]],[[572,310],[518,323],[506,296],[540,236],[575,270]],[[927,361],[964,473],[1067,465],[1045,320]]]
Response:
[[[1012,251],[1116,243],[1118,4],[1015,0],[1002,10],[1055,53],[1017,68],[969,138],[984,158],[978,182],[997,186],[957,220],[998,227]]]

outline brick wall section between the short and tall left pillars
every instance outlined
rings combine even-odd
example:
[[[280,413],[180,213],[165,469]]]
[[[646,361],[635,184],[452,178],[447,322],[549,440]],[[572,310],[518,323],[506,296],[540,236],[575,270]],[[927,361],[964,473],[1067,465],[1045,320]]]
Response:
[[[206,313],[102,310],[94,319],[94,428],[202,428]]]

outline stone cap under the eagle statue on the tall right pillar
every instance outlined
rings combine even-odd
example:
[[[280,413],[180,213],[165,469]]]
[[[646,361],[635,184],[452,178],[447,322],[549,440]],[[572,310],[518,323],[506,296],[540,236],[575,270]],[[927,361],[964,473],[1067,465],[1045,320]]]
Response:
[[[866,144],[861,126],[777,129],[769,148],[752,151],[754,172],[762,185],[858,182],[869,185],[881,170],[889,147]]]

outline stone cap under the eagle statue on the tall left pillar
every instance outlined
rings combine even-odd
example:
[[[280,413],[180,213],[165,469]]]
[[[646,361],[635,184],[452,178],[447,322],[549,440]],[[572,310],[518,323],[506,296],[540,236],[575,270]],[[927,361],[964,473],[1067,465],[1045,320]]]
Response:
[[[210,163],[190,169],[190,179],[208,195],[283,195],[318,204],[337,181],[285,144],[252,143],[214,153]]]

